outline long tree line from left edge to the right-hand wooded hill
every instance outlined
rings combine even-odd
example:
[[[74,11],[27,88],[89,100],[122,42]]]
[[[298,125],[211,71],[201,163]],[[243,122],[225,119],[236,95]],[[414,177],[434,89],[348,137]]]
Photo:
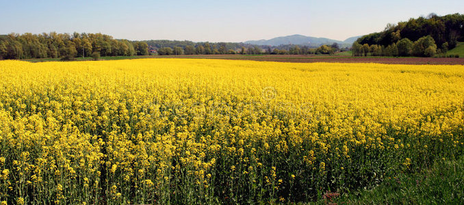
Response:
[[[318,48],[293,44],[257,46],[234,42],[177,40],[116,40],[102,33],[10,33],[0,36],[0,59],[132,56],[132,55],[314,55],[333,54],[337,43]]]

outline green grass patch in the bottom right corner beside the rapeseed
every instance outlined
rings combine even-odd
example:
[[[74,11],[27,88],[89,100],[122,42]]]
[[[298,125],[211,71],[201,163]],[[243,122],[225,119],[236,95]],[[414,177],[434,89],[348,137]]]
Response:
[[[440,161],[418,173],[387,178],[371,190],[342,194],[320,204],[463,204],[464,157]]]

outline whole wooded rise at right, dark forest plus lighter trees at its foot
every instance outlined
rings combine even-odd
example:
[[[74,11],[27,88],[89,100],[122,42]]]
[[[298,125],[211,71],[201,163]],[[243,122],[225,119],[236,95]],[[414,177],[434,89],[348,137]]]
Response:
[[[429,14],[365,35],[353,43],[352,51],[355,56],[433,57],[445,55],[459,41],[464,41],[464,14]]]

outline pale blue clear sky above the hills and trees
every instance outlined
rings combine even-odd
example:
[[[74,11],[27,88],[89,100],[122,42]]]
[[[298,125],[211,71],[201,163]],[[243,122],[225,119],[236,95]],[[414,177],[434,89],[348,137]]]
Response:
[[[0,0],[0,34],[105,33],[128,40],[244,42],[301,34],[345,40],[430,13],[463,13],[463,0],[40,1]]]

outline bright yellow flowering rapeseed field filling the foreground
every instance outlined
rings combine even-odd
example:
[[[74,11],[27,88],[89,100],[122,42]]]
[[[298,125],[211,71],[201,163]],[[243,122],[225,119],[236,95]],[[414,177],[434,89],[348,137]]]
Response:
[[[0,61],[0,202],[309,202],[463,152],[464,66]]]

